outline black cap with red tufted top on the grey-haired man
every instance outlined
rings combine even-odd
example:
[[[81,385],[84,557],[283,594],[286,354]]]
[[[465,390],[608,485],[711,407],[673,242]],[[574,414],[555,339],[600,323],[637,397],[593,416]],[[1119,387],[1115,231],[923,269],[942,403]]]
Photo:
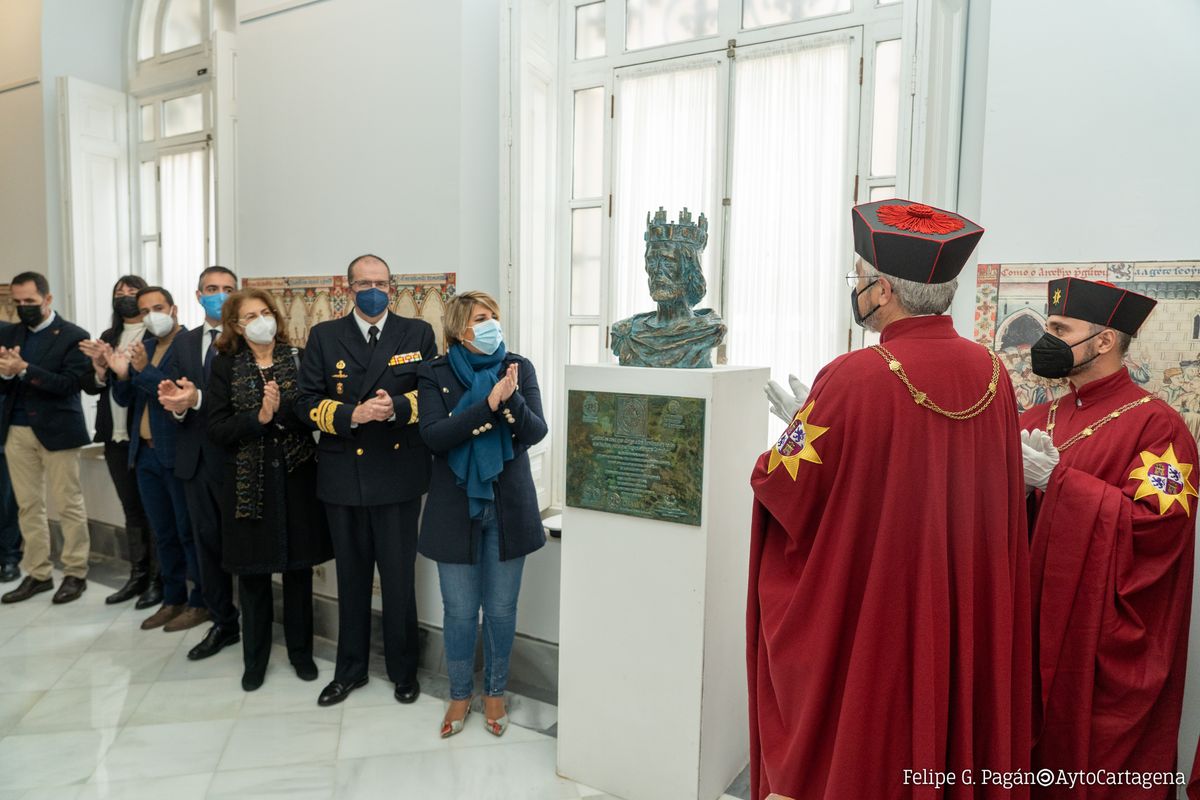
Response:
[[[983,228],[953,211],[894,198],[850,212],[854,252],[883,272],[917,283],[947,283],[974,252]]]

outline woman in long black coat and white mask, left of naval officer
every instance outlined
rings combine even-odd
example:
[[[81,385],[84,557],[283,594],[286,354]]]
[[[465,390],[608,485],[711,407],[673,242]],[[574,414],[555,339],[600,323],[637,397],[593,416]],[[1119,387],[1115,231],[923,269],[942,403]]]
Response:
[[[209,379],[209,435],[226,449],[221,547],[239,576],[245,673],[263,685],[271,654],[271,573],[283,573],[283,637],[301,680],[312,660],[312,567],[334,557],[317,500],[317,449],[295,416],[300,351],[290,347],[275,301],[244,289],[221,312],[218,355]]]

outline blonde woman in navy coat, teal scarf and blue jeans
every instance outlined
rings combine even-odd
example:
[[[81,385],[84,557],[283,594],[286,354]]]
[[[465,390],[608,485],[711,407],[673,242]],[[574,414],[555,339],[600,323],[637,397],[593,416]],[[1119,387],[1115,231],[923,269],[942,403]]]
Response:
[[[418,549],[438,563],[450,674],[442,738],[470,711],[480,608],[484,724],[500,736],[524,557],[546,543],[527,452],[546,422],[533,365],[504,348],[496,300],[457,295],[445,332],[446,355],[418,372],[421,438],[433,451]]]

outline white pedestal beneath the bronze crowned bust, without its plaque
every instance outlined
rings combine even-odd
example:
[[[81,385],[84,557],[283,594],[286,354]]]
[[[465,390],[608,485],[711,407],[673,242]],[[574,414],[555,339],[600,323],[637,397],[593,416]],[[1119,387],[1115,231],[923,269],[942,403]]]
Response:
[[[714,800],[749,760],[745,599],[767,368],[568,367],[566,389],[701,397],[701,525],[563,512],[558,771],[624,800]]]

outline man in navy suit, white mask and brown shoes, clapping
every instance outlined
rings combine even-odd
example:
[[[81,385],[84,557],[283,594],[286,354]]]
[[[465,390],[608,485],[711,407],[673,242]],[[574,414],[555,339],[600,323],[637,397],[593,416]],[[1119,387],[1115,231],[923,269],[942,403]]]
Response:
[[[137,470],[138,493],[158,549],[162,606],[142,621],[142,630],[182,631],[208,621],[196,569],[196,547],[187,517],[184,485],[175,477],[178,423],[158,402],[158,384],[174,369],[179,335],[178,309],[170,293],[146,287],[137,294],[146,331],[154,337],[108,355],[116,381],[113,398],[133,407],[130,421],[130,465]],[[194,584],[191,594],[187,581]]]

